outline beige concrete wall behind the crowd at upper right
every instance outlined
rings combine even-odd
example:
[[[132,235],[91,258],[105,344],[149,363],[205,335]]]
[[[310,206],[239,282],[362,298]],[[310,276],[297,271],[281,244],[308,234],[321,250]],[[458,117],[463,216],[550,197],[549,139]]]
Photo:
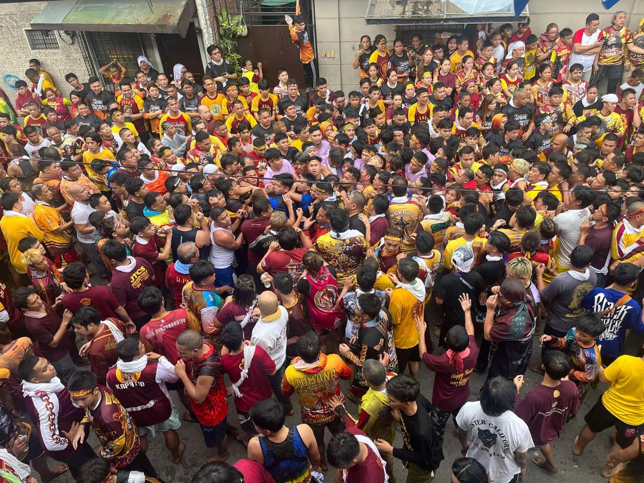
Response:
[[[327,79],[330,89],[341,88],[345,93],[357,89],[358,73],[351,64],[360,48],[361,35],[370,35],[374,39],[375,35],[382,33],[390,42],[395,37],[395,25],[366,25],[368,3],[369,0],[315,2],[320,76]],[[533,0],[528,8],[530,27],[535,35],[544,32],[545,26],[551,22],[558,24],[560,30],[564,27],[573,31],[583,28],[586,16],[592,12],[600,15],[601,28],[610,24],[612,14],[618,10],[629,14],[627,26],[631,30],[636,29],[644,17],[644,0],[621,0],[611,10],[604,10],[599,1],[588,0]],[[499,25],[493,24],[493,28]],[[323,57],[322,54],[329,51],[335,52],[335,57]]]

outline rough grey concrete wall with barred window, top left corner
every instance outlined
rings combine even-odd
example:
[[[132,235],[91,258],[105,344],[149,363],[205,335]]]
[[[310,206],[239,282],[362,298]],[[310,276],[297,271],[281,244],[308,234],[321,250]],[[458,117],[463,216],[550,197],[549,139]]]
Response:
[[[0,9],[0,87],[14,100],[16,93],[15,81],[24,77],[24,71],[29,68],[29,59],[39,59],[43,70],[48,71],[63,95],[68,95],[71,87],[65,82],[65,74],[75,72],[81,79],[88,75],[83,61],[81,48],[77,37],[73,44],[64,43],[57,32],[54,32],[59,48],[32,50],[27,41],[25,30],[30,30],[30,21],[43,10],[46,2],[3,3]]]

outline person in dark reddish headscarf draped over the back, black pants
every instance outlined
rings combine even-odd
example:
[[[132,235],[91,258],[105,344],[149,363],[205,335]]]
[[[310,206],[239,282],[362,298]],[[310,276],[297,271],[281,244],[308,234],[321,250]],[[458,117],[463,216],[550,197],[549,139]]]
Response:
[[[520,280],[506,278],[486,301],[484,336],[492,345],[488,379],[525,374],[532,355],[536,303]]]

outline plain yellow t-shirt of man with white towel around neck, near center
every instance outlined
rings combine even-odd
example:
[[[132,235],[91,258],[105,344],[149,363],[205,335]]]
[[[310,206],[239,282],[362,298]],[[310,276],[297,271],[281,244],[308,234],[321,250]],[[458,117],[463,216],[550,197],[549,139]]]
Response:
[[[422,283],[416,279],[415,283]],[[425,302],[419,301],[409,290],[398,287],[393,289],[389,303],[392,314],[393,343],[397,348],[408,349],[418,344],[418,330],[415,317],[422,317]]]

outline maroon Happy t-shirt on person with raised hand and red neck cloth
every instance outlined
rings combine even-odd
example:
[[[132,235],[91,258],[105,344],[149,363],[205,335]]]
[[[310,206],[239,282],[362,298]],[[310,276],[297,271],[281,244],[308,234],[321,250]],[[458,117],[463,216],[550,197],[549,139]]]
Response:
[[[431,402],[444,412],[457,410],[468,402],[469,377],[477,364],[478,347],[474,336],[469,336],[469,355],[463,358],[463,371],[458,372],[456,364],[450,364],[447,354],[422,355],[427,368],[436,373]]]

